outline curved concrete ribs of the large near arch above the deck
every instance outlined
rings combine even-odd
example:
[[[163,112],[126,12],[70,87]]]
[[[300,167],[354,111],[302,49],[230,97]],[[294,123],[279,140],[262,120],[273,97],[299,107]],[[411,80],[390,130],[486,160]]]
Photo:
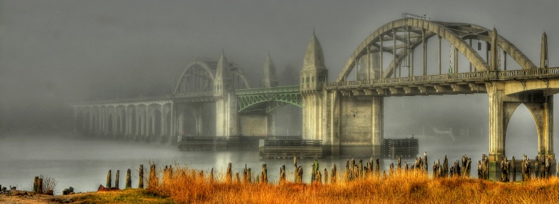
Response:
[[[410,35],[409,47],[413,50],[423,43],[423,38],[428,40],[433,36],[440,36],[451,43],[458,51],[467,58],[477,71],[489,70],[488,63],[481,58],[481,56],[474,50],[465,40],[477,39],[491,42],[491,33],[489,29],[475,24],[463,23],[449,23],[449,22],[433,22],[424,19],[397,19],[388,24],[384,24],[379,29],[370,34],[365,40],[357,47],[349,60],[345,63],[342,72],[338,75],[336,82],[345,81],[349,76],[351,70],[354,69],[356,61],[359,61],[362,56],[368,53],[381,52],[382,41],[385,40],[400,40],[400,44],[394,46],[382,45],[382,52],[393,52],[394,49],[400,49],[394,56],[395,61],[391,61],[387,68],[382,68],[382,78],[391,77],[397,63],[407,56],[405,48],[402,43],[405,42],[404,37],[394,35],[394,32],[399,32],[398,29],[407,28],[412,33],[413,39]],[[393,39],[393,36],[396,39]],[[523,70],[537,68],[528,57],[525,56],[516,46],[514,46],[507,39],[498,36],[498,47],[507,52],[509,56],[521,65]],[[382,65],[381,65],[382,66]]]

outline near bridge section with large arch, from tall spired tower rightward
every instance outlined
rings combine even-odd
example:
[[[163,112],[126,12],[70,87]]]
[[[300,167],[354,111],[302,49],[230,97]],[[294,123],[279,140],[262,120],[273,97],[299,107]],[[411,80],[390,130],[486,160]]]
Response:
[[[430,39],[435,39],[434,52],[428,49]],[[442,68],[443,40],[451,47],[448,69]],[[300,72],[303,138],[322,139],[324,152],[331,155],[382,155],[384,97],[484,93],[493,170],[505,155],[507,125],[519,104],[535,120],[538,155],[554,157],[553,94],[559,90],[559,68],[549,67],[546,33],[540,47],[535,65],[495,28],[406,17],[373,31],[337,79],[328,82],[324,54],[313,36]]]

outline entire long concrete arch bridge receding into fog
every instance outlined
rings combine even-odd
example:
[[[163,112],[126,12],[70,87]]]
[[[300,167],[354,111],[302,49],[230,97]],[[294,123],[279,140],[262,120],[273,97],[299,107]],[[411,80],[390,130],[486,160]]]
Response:
[[[431,38],[438,45],[436,65],[428,64],[433,62],[428,59]],[[441,63],[442,40],[451,46],[448,71]],[[418,51],[421,60],[414,62]],[[458,68],[464,64],[458,62],[460,58],[469,67]],[[514,61],[514,69],[507,58]],[[314,33],[299,86],[277,86],[270,56],[263,75],[261,88],[251,88],[242,69],[224,54],[219,61],[197,59],[184,69],[171,95],[75,104],[76,124],[88,134],[147,140],[185,130],[196,130],[191,133],[198,135],[273,135],[274,111],[293,104],[303,109],[303,139],[322,140],[326,155],[370,156],[382,155],[384,97],[484,93],[489,97],[493,173],[499,171],[495,165],[505,155],[507,125],[520,104],[535,119],[538,155],[555,156],[553,94],[559,93],[559,68],[549,68],[546,33],[537,66],[495,28],[404,17],[361,41],[333,82],[328,81]],[[208,116],[203,113],[210,112],[215,117],[204,118]]]

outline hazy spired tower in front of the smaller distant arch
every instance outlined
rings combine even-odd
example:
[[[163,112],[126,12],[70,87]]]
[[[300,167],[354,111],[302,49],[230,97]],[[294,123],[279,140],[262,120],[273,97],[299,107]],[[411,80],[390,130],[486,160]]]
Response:
[[[229,62],[222,53],[217,61],[214,80],[214,97],[216,101],[216,136],[237,136],[237,99],[232,86]]]

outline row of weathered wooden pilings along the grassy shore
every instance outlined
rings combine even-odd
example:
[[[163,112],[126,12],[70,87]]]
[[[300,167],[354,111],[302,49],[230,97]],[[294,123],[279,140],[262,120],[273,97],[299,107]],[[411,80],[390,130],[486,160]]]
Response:
[[[551,157],[549,156],[542,156],[536,158],[536,168],[535,168],[535,177],[536,178],[549,178],[551,177]],[[514,157],[509,162],[507,157],[502,157],[502,162],[500,164],[501,170],[501,180],[502,182],[509,182],[509,178],[512,174],[512,181],[516,181],[516,168],[511,168],[514,166]],[[383,171],[382,177],[387,178],[389,176],[395,174],[402,174],[408,173],[409,171],[415,171],[423,174],[427,174],[428,172],[428,165],[427,165],[427,153],[425,152],[423,157],[416,158],[414,164],[408,166],[407,162],[404,162],[404,166],[402,167],[401,157],[398,157],[397,166],[394,164],[390,164],[389,173],[387,175],[386,171]],[[442,164],[440,160],[437,159],[436,162],[433,162],[433,178],[447,178],[447,177],[463,177],[463,178],[470,178],[470,171],[472,166],[472,159],[464,155],[461,160],[456,160],[453,163],[453,166],[449,166],[449,161],[447,159],[447,155],[444,155],[444,159]],[[478,178],[483,180],[488,180],[488,157],[484,154],[481,157],[481,160],[478,161]],[[240,178],[239,173],[235,173],[235,180],[237,182],[261,182],[267,183],[268,182],[268,168],[266,164],[262,165],[261,173],[259,176],[256,176],[253,180],[251,168],[247,168],[245,164],[245,168],[242,169],[242,180]],[[324,172],[324,173],[323,173]],[[522,162],[522,169],[521,172],[523,174],[523,180],[530,179],[530,160],[524,156]],[[324,171],[321,171],[319,168],[319,162],[314,160],[314,164],[312,164],[312,171],[311,171],[311,182],[318,182],[321,183],[324,180],[324,183],[330,182],[331,184],[335,184],[337,182],[337,167],[334,164],[333,168],[330,171],[331,175],[328,176],[328,169],[324,168]],[[138,181],[138,188],[144,188],[144,169],[143,164],[140,164],[139,168],[139,181]],[[203,176],[203,171],[201,171],[201,175]],[[363,166],[363,160],[359,160],[358,162],[355,159],[347,160],[345,166],[345,172],[342,178],[346,181],[357,180],[361,178],[367,178],[370,176],[380,177],[380,166],[379,166],[379,159],[374,159],[373,157],[370,158],[369,162]],[[166,180],[168,178],[173,177],[173,167],[172,166],[165,166],[164,169],[164,178]],[[212,168],[210,171],[210,181],[214,182],[214,169]],[[293,157],[293,181],[295,183],[303,183],[303,166],[297,165],[297,157]],[[159,180],[157,178],[157,172],[155,168],[155,164],[150,165],[150,175],[148,180],[148,185],[157,185]],[[228,163],[226,175],[225,175],[225,182],[233,182],[233,168],[231,163]],[[285,165],[282,165],[279,168],[279,183],[282,184],[286,182],[286,171]],[[36,177],[36,186],[34,185],[34,189],[39,190],[42,189],[38,187],[40,185],[40,179]],[[107,188],[112,187],[112,180],[111,180],[111,171],[109,170],[107,173]],[[116,178],[115,178],[115,187],[119,189],[119,171],[117,170]],[[128,169],[126,171],[126,189],[131,188],[131,171]]]

